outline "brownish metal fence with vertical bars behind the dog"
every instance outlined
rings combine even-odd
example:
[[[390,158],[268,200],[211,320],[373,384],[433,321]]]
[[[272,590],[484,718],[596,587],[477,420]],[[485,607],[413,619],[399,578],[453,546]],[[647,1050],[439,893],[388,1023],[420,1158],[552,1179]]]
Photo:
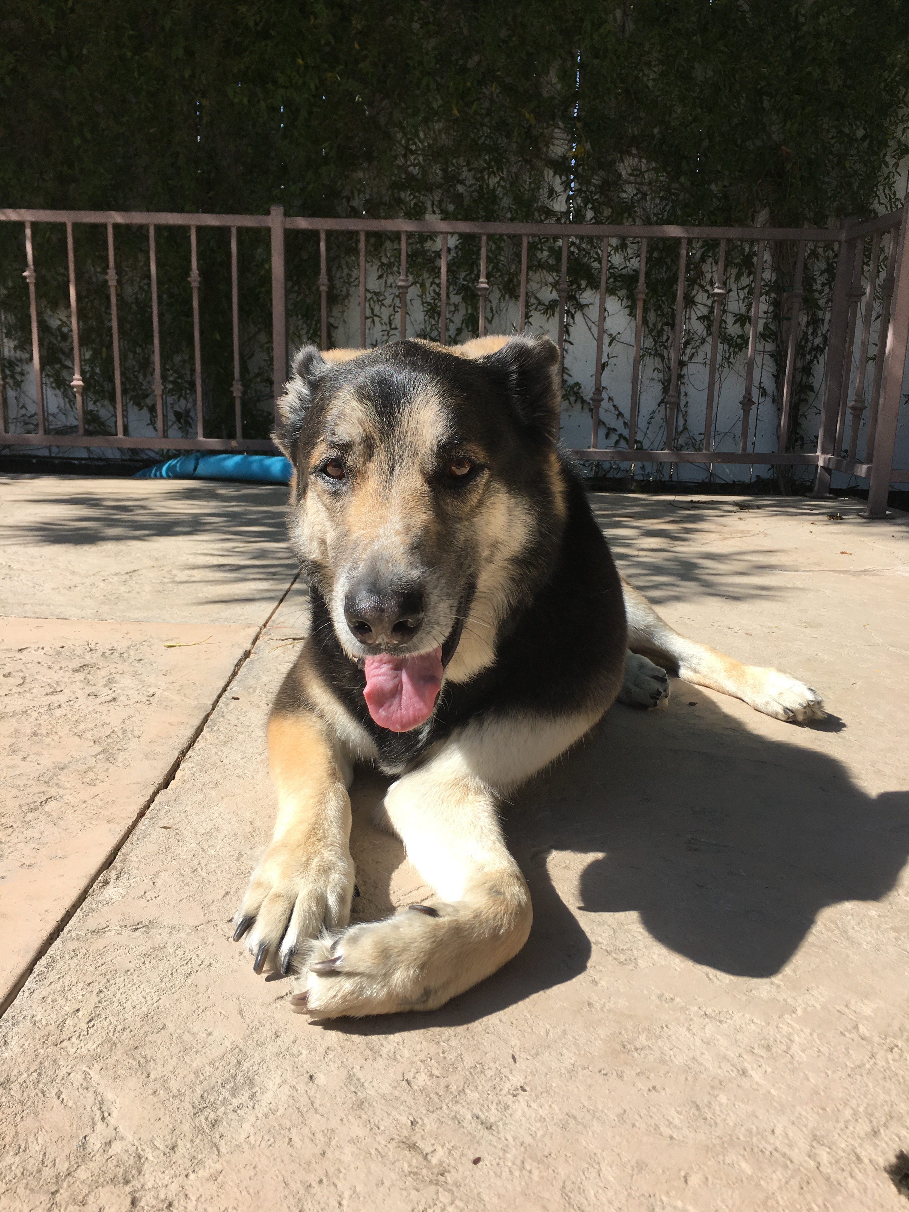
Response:
[[[287,376],[287,307],[285,282],[285,233],[288,230],[311,231],[319,238],[321,345],[328,344],[328,274],[327,241],[332,233],[358,233],[359,258],[359,322],[360,345],[366,345],[366,235],[368,233],[400,234],[400,337],[407,336],[407,293],[412,282],[407,278],[408,235],[439,239],[440,316],[439,333],[442,344],[448,339],[448,239],[479,238],[480,278],[478,336],[486,330],[486,301],[491,284],[487,280],[487,241],[491,236],[520,240],[521,270],[518,331],[525,327],[527,307],[527,250],[530,240],[555,240],[561,244],[561,271],[558,295],[558,343],[565,358],[566,299],[568,296],[568,246],[570,241],[593,240],[600,242],[600,290],[596,319],[596,354],[593,376],[593,429],[590,446],[571,450],[578,459],[613,463],[698,463],[751,465],[808,465],[816,468],[814,492],[824,496],[829,491],[831,471],[865,478],[869,480],[868,515],[882,518],[886,513],[887,492],[893,482],[909,482],[909,470],[894,469],[893,452],[902,398],[903,370],[909,342],[909,245],[905,240],[905,219],[909,207],[841,228],[710,228],[710,227],[644,227],[618,224],[556,224],[556,223],[453,223],[410,219],[327,219],[287,217],[282,207],[274,206],[269,216],[253,215],[172,215],[116,211],[42,211],[0,210],[0,221],[24,225],[25,268],[32,315],[32,361],[34,366],[35,400],[38,407],[38,431],[32,434],[8,433],[0,412],[0,446],[55,446],[55,447],[120,447],[141,450],[210,450],[210,451],[264,451],[274,450],[269,441],[242,436],[242,382],[240,377],[240,301],[238,291],[238,229],[267,228],[270,230],[271,267],[271,319],[274,348],[274,395],[278,400]],[[41,348],[39,339],[39,267],[33,251],[34,223],[59,223],[65,225],[69,257],[69,301],[73,338],[74,375],[72,388],[76,400],[78,433],[52,434],[48,430],[45,393],[41,377]],[[85,433],[84,383],[80,368],[78,291],[73,228],[75,224],[101,224],[107,228],[108,271],[110,287],[110,320],[113,341],[113,370],[115,391],[116,433],[96,435]],[[156,400],[156,434],[130,436],[124,425],[124,394],[120,373],[120,348],[118,336],[118,269],[115,255],[115,230],[130,224],[148,229],[149,270],[152,284],[152,342],[154,354],[154,394]],[[172,438],[166,433],[164,389],[161,379],[161,342],[159,333],[158,265],[155,258],[155,230],[162,227],[182,227],[189,230],[189,281],[193,292],[193,328],[195,353],[196,436]],[[231,311],[233,311],[233,360],[235,401],[235,438],[207,438],[202,408],[202,365],[200,344],[199,285],[200,274],[196,256],[199,228],[225,228],[230,234],[231,253]],[[669,375],[669,389],[664,395],[665,446],[662,450],[644,450],[638,441],[639,407],[641,404],[641,349],[644,332],[644,308],[647,296],[647,250],[654,241],[675,241],[679,248],[678,291],[675,324]],[[713,297],[713,331],[709,345],[708,383],[705,400],[704,438],[701,450],[676,448],[676,418],[680,404],[680,364],[682,350],[682,315],[686,290],[686,264],[693,241],[719,244]],[[610,288],[611,241],[640,241],[638,284],[634,290],[636,315],[634,325],[634,353],[628,413],[628,439],[625,446],[600,447],[598,445],[600,407],[604,399],[602,355],[605,337],[605,304]],[[750,241],[756,246],[755,274],[748,353],[745,360],[744,394],[741,401],[742,423],[738,451],[719,450],[713,438],[711,418],[715,407],[718,349],[724,318],[724,302],[728,295],[724,280],[726,251],[732,241]],[[789,292],[789,333],[787,343],[785,373],[782,391],[782,415],[777,427],[773,450],[748,450],[749,416],[754,407],[754,372],[759,341],[760,308],[764,290],[764,264],[767,250],[773,244],[789,242],[797,248],[793,288]],[[870,242],[870,252],[868,245]],[[802,298],[802,273],[806,248],[812,245],[831,247],[836,255],[836,274],[828,315],[827,361],[821,391],[821,418],[816,451],[785,448],[789,433],[793,376],[799,342],[800,304]],[[625,244],[627,246],[627,244]],[[886,258],[886,269],[880,279],[880,264]],[[867,268],[865,268],[867,267]],[[875,315],[875,309],[879,314]],[[874,335],[874,339],[873,339]],[[858,353],[856,355],[856,345]],[[867,382],[868,367],[873,365],[870,388]],[[850,395],[851,390],[851,395]],[[0,393],[2,382],[0,381]],[[864,424],[864,430],[863,430]],[[859,434],[864,431],[864,451],[859,456]]]

